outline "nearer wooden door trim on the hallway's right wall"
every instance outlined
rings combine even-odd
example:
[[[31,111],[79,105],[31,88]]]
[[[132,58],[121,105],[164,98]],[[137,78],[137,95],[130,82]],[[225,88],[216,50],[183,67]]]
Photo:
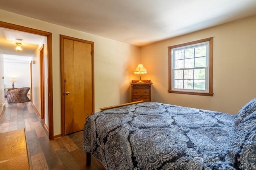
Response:
[[[44,44],[40,48],[40,111],[41,119],[44,119]],[[45,123],[45,122],[44,122]]]

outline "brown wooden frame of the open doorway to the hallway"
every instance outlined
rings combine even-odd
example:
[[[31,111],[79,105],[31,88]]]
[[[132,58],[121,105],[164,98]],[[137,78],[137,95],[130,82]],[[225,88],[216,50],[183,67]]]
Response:
[[[29,27],[24,27],[20,25],[15,25],[12,23],[7,23],[0,21],[0,27],[14,29],[18,31],[23,31],[27,33],[33,33],[36,35],[42,35],[47,37],[47,57],[48,57],[48,117],[49,117],[49,139],[54,139],[53,134],[53,90],[52,90],[52,33],[41,31],[38,29],[33,29]]]

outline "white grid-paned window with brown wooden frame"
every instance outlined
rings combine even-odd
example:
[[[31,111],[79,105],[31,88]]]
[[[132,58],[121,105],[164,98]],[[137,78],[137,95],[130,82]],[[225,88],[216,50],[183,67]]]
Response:
[[[168,47],[169,93],[213,96],[213,37]]]

